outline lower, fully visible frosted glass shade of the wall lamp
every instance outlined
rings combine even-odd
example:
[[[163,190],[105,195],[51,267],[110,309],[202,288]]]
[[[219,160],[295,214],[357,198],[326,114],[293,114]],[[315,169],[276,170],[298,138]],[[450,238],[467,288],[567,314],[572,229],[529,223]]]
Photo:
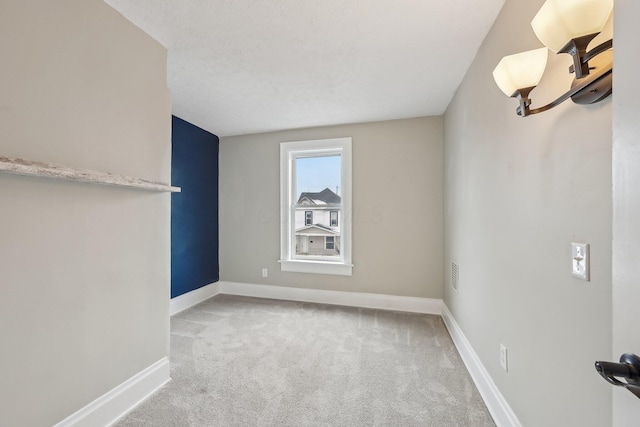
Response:
[[[493,78],[505,95],[513,96],[519,89],[538,86],[548,57],[546,47],[505,56],[493,70]]]

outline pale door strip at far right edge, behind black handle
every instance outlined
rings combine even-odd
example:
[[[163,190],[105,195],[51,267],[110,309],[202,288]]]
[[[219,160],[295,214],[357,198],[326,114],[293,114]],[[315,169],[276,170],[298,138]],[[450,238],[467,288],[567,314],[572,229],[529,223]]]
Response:
[[[613,354],[640,354],[640,106],[637,69],[640,3],[615,2],[616,51],[613,99]],[[635,426],[638,398],[613,388],[613,425]]]

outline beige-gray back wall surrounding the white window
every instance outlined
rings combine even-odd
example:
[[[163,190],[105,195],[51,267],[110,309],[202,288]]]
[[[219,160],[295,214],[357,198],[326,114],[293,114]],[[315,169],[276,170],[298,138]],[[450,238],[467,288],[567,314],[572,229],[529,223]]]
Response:
[[[279,144],[349,136],[353,276],[281,272]],[[222,138],[220,279],[441,298],[442,118]]]

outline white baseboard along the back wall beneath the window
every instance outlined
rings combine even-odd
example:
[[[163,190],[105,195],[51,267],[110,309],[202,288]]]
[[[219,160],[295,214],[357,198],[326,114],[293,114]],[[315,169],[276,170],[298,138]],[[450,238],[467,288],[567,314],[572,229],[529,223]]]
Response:
[[[321,289],[290,288],[285,286],[254,285],[237,282],[218,283],[221,294],[345,305],[379,310],[406,311],[411,313],[442,314],[442,300],[440,299],[360,292],[325,291]]]

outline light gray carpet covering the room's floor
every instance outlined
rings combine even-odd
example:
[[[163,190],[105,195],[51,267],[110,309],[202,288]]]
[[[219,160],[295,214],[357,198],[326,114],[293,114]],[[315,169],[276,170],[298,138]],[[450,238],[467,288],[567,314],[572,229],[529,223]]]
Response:
[[[218,295],[129,426],[494,426],[439,316]]]

